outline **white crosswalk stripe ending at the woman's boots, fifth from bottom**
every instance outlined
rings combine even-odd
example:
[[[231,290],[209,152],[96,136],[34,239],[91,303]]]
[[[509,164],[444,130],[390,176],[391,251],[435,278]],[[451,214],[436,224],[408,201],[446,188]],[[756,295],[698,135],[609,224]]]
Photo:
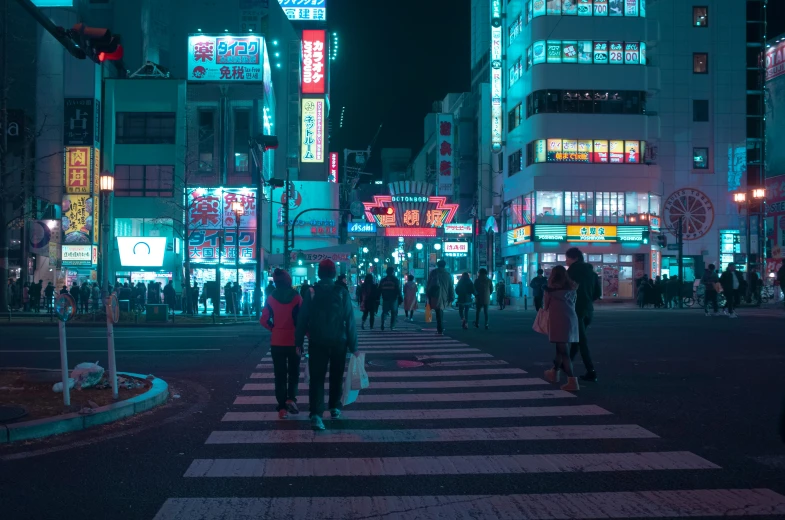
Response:
[[[369,395],[360,393],[357,403],[429,403],[429,402],[461,402],[461,401],[517,401],[529,399],[561,399],[576,397],[575,394],[563,390],[527,390],[523,392],[480,392],[466,394],[387,394]],[[300,404],[308,403],[308,396],[297,398]],[[234,404],[277,404],[272,395],[240,395]]]

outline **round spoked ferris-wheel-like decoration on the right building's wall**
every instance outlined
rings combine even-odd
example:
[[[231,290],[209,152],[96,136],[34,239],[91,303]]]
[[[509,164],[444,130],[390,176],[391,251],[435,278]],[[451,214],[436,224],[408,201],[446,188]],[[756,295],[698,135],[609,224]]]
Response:
[[[708,233],[714,224],[714,205],[708,195],[700,190],[683,188],[674,191],[665,201],[663,227],[676,235],[679,218],[682,238],[697,240]]]

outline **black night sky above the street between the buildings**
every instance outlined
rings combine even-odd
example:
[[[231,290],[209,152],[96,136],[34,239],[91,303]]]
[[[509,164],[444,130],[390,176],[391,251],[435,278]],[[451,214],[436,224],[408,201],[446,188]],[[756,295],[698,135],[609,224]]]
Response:
[[[785,33],[785,0],[769,0],[768,9],[769,36]],[[328,19],[339,35],[330,148],[364,149],[383,124],[366,168],[378,174],[382,148],[417,153],[432,103],[471,88],[470,0],[333,0]]]

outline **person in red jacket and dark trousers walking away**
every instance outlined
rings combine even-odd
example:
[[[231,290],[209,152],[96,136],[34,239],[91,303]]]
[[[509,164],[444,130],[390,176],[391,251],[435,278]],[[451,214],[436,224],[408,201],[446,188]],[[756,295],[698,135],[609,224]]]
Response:
[[[273,333],[270,352],[275,373],[275,399],[278,401],[276,409],[278,418],[286,419],[290,413],[300,413],[297,386],[300,383],[302,352],[294,346],[294,331],[303,299],[292,289],[292,277],[283,269],[273,271],[273,282],[275,290],[267,296],[259,323]]]

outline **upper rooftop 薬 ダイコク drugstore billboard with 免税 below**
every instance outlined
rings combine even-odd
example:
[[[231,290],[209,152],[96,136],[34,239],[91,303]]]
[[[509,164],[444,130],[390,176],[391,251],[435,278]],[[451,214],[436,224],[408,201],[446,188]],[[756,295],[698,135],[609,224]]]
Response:
[[[188,36],[188,80],[252,82],[262,81],[261,36]]]

